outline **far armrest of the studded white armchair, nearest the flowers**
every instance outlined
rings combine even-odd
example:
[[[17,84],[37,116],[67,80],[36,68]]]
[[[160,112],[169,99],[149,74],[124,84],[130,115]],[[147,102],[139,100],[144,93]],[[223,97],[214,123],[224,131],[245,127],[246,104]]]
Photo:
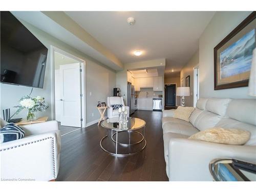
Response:
[[[36,135],[42,134],[50,131],[57,131],[59,130],[58,122],[57,121],[46,121],[42,123],[33,123],[28,125],[21,125],[25,131],[25,135]]]

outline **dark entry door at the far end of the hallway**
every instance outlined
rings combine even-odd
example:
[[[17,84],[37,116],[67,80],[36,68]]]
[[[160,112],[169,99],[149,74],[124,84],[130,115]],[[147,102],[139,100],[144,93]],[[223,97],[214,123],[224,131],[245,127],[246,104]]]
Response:
[[[176,84],[165,84],[164,98],[164,109],[176,109]]]

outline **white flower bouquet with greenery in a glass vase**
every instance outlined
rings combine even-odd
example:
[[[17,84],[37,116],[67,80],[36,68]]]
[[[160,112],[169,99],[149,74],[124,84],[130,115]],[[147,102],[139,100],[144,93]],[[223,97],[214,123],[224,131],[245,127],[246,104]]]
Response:
[[[34,119],[34,112],[46,111],[49,108],[49,105],[45,102],[45,98],[41,96],[24,96],[19,99],[19,104],[20,105],[18,106],[14,106],[14,108],[18,108],[16,114],[18,114],[23,109],[28,109],[27,119]]]

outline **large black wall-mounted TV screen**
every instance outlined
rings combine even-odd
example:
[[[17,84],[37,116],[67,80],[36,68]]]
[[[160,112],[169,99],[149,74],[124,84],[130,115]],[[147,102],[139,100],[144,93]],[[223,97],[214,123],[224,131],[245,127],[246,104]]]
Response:
[[[48,49],[9,11],[1,11],[1,82],[42,88]]]

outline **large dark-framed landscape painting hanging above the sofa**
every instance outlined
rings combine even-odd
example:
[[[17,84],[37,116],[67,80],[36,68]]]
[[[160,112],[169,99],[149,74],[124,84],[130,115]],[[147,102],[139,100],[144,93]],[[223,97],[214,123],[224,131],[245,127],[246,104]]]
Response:
[[[253,11],[214,48],[214,90],[247,87],[255,48]]]

